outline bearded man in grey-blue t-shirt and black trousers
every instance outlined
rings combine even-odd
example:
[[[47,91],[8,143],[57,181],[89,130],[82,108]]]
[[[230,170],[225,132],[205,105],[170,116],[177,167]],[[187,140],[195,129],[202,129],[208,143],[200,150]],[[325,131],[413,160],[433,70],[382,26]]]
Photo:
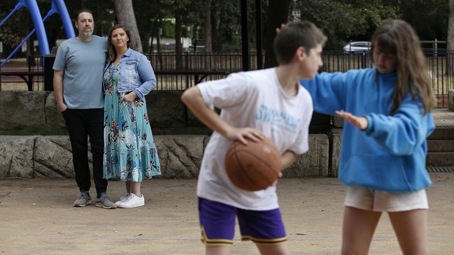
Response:
[[[64,41],[57,50],[54,69],[54,90],[57,108],[62,112],[73,150],[73,166],[80,196],[73,205],[90,204],[90,168],[88,144],[93,154],[93,179],[97,191],[96,205],[115,208],[106,195],[103,179],[104,92],[102,71],[106,63],[107,40],[93,35],[94,21],[90,10],[81,10],[76,17],[78,36]]]

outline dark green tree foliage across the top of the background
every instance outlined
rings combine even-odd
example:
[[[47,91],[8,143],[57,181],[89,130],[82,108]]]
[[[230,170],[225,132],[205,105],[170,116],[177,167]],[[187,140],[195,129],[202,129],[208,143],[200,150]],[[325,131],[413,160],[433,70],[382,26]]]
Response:
[[[51,0],[38,0],[41,15],[45,15]],[[340,50],[348,41],[369,40],[374,29],[390,18],[402,18],[415,27],[423,40],[446,40],[448,30],[448,0],[298,0],[292,10],[299,10],[302,20],[311,20],[328,36],[326,50]],[[0,1],[0,18],[13,10],[17,1]],[[115,23],[112,1],[66,0],[69,15],[74,17],[80,8],[94,14],[94,34],[106,36]],[[136,22],[143,38],[143,50],[150,49],[146,38],[156,37],[159,28],[163,36],[176,37],[175,24],[167,18],[179,17],[180,33],[192,41],[204,39],[204,0],[134,0]],[[248,1],[249,42],[255,43],[255,1]],[[267,22],[269,0],[262,0],[262,23]],[[271,10],[272,11],[272,10]],[[239,0],[212,0],[211,24],[213,51],[241,50],[241,11]],[[33,23],[28,11],[22,8],[3,27],[3,45],[14,48],[22,41]],[[190,29],[188,29],[190,28]],[[45,22],[50,47],[57,38],[64,38],[61,20],[53,15]],[[264,31],[264,29],[262,30]],[[268,38],[270,40],[270,38]],[[253,47],[251,47],[253,48]]]

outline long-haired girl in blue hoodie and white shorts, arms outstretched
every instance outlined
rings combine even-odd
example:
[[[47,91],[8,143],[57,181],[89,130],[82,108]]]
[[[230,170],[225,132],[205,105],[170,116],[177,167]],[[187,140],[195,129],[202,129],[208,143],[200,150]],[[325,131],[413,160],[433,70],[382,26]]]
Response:
[[[348,185],[341,254],[367,254],[388,212],[404,254],[427,254],[425,169],[436,100],[413,28],[390,20],[372,36],[374,68],[302,81],[314,110],[343,126],[339,180]]]

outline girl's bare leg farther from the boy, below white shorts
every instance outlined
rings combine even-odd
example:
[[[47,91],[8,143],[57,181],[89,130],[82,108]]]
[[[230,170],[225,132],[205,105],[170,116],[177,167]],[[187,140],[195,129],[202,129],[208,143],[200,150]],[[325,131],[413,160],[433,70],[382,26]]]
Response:
[[[429,254],[426,240],[427,210],[389,212],[403,254]]]

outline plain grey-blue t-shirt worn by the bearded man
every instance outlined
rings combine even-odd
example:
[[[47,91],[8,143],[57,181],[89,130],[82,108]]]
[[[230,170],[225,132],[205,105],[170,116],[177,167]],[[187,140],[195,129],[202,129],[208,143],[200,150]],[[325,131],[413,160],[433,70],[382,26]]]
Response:
[[[99,36],[89,42],[75,37],[59,45],[53,69],[64,71],[63,100],[69,109],[104,107],[101,78],[106,54],[107,39]]]

